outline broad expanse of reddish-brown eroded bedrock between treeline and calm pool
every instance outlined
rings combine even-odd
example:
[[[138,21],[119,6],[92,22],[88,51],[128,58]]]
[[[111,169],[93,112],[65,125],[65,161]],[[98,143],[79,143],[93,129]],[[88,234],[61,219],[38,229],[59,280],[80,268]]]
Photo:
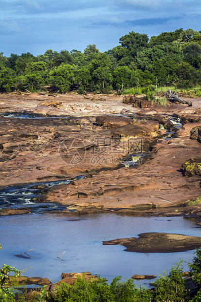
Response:
[[[142,110],[123,103],[122,97],[57,96],[1,95],[1,113],[73,116],[0,116],[1,187],[83,175],[69,185],[41,187],[40,200],[86,211],[148,208],[154,212],[183,206],[201,195],[200,174],[186,177],[181,169],[189,158],[201,154],[198,101],[194,105],[193,100],[192,107],[157,105]],[[118,116],[122,110],[137,114]],[[175,127],[175,116],[183,121],[180,129]],[[130,167],[125,164],[129,160]]]

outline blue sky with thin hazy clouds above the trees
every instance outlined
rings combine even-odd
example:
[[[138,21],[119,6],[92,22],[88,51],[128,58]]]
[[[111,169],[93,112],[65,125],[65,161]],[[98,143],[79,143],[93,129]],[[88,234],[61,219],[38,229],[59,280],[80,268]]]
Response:
[[[131,31],[201,30],[201,0],[0,0],[0,52],[101,51]]]

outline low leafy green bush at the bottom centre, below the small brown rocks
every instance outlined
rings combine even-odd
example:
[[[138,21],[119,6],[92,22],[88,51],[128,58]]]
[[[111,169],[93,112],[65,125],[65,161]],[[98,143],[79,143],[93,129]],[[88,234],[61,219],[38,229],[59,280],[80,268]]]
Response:
[[[137,288],[133,279],[120,282],[121,276],[115,277],[109,285],[106,279],[87,282],[78,278],[75,283],[62,283],[55,292],[50,293],[49,302],[149,302],[152,294],[145,287]]]

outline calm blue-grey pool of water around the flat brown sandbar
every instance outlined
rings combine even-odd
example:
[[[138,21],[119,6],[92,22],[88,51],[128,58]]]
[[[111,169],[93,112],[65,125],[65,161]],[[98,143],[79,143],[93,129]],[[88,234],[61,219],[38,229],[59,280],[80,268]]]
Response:
[[[170,220],[171,219],[171,220]],[[144,232],[169,232],[200,236],[201,229],[182,217],[134,217],[113,213],[84,215],[44,213],[0,217],[0,266],[27,267],[25,275],[58,281],[62,272],[90,271],[106,277],[130,278],[133,274],[169,272],[180,258],[184,270],[193,251],[183,253],[133,253],[124,246],[102,245],[102,241],[137,236]],[[15,255],[30,256],[28,259]],[[61,259],[57,256],[63,253]],[[26,255],[25,255],[26,256]],[[134,281],[149,283],[149,280]]]

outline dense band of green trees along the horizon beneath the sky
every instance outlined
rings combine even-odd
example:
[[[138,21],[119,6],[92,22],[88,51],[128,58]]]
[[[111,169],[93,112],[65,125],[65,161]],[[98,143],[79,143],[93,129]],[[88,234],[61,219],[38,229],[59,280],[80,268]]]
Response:
[[[104,53],[96,45],[47,50],[43,55],[0,53],[0,91],[121,92],[128,87],[201,85],[201,31],[177,29],[150,39],[130,32]]]

